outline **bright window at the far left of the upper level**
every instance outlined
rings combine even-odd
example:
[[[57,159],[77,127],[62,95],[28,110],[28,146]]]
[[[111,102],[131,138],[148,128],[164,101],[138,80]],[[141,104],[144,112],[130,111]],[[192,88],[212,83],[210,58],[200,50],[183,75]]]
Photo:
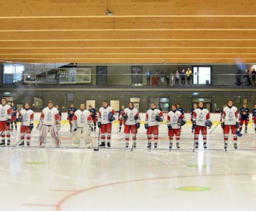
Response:
[[[4,84],[12,84],[22,80],[23,64],[4,63]]]

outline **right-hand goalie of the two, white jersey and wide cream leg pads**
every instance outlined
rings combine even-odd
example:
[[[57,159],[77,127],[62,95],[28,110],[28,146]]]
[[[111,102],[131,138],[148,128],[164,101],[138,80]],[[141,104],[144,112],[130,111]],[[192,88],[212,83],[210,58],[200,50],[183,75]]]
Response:
[[[85,105],[82,103],[80,105],[80,109],[76,110],[73,116],[73,125],[74,125],[74,138],[73,138],[73,146],[79,147],[81,137],[84,139],[84,143],[86,147],[92,147],[92,137],[90,136],[89,129],[87,125],[89,125],[90,130],[93,131],[92,128],[92,117],[90,112],[85,110]]]

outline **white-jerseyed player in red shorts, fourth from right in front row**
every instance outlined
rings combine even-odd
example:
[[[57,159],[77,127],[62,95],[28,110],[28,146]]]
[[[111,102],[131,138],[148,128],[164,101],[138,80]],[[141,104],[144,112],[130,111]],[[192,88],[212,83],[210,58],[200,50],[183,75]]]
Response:
[[[164,115],[162,111],[159,109],[156,109],[156,104],[151,103],[151,109],[149,109],[146,112],[146,123],[144,125],[145,129],[147,130],[147,135],[148,135],[148,148],[151,148],[151,135],[153,133],[154,135],[154,147],[157,147],[158,143],[158,127],[160,125],[160,122],[162,122],[164,119]]]

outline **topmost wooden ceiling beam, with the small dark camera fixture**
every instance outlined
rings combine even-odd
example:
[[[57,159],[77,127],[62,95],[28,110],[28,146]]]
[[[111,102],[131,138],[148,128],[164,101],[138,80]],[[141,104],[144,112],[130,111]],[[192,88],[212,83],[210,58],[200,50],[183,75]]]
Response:
[[[250,15],[255,0],[8,0],[0,2],[1,16],[95,16],[106,9],[115,15]]]

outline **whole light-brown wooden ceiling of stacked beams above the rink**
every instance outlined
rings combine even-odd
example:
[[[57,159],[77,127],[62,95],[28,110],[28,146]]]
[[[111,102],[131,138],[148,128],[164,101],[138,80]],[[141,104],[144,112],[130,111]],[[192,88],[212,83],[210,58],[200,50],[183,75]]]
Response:
[[[256,63],[256,1],[1,1],[0,60]]]

